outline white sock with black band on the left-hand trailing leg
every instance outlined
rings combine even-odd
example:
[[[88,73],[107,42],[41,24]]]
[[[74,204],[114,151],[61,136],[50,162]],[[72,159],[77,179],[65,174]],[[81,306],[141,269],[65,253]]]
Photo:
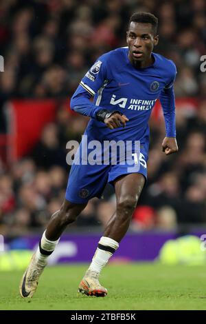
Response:
[[[50,254],[52,254],[52,252],[54,251],[54,249],[59,241],[59,239],[57,241],[49,241],[45,236],[45,232],[43,232],[43,236],[41,238],[41,243],[40,243],[41,251],[40,251],[40,247],[38,246],[38,249],[36,250],[36,254],[35,254],[37,262],[39,262],[41,264],[47,263],[48,256]],[[45,254],[43,254],[41,252],[45,252]]]

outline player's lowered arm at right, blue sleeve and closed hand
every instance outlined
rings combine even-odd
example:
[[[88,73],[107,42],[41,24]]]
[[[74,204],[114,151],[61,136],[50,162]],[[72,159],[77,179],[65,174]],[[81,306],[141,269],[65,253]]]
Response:
[[[175,66],[175,65],[174,65]],[[172,80],[162,91],[159,97],[163,108],[163,116],[165,119],[166,136],[163,139],[162,150],[166,155],[175,153],[178,151],[178,145],[176,143],[176,122],[175,122],[175,98],[173,83],[176,77],[176,68],[174,70]]]

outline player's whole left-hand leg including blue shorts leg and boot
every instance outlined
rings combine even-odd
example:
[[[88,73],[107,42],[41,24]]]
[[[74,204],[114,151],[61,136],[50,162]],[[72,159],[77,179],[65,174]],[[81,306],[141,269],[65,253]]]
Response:
[[[54,251],[62,232],[67,225],[76,220],[89,199],[101,196],[108,179],[107,168],[104,165],[99,165],[95,169],[93,165],[72,165],[66,199],[60,210],[52,215],[39,247],[23,275],[20,285],[21,296],[32,297],[37,287],[38,278],[47,263],[47,258]]]

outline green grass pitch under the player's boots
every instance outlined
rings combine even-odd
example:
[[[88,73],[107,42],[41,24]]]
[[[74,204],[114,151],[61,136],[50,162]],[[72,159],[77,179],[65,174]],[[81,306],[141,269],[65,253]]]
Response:
[[[47,267],[32,299],[19,296],[22,272],[0,272],[0,310],[206,310],[203,266],[107,265],[104,298],[77,293],[87,265]]]

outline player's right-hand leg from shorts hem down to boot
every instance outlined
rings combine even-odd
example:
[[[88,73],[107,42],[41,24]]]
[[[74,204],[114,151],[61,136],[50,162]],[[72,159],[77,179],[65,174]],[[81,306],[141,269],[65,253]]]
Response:
[[[126,174],[115,181],[117,210],[108,222],[91,265],[80,283],[79,291],[83,294],[106,296],[107,290],[100,285],[98,277],[128,230],[144,183],[145,177],[136,173]]]

